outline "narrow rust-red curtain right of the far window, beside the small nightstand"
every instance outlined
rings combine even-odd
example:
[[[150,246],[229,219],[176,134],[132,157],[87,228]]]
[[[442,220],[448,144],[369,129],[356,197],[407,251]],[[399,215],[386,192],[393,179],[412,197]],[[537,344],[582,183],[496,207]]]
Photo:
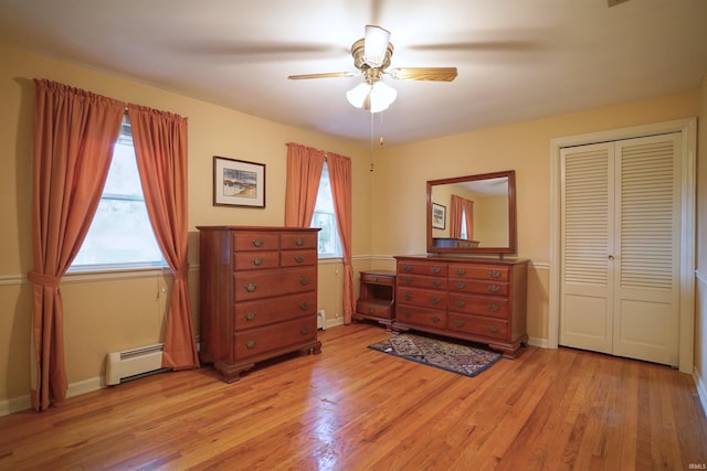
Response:
[[[349,324],[356,306],[351,266],[351,159],[329,152],[327,165],[344,253],[344,323]]]

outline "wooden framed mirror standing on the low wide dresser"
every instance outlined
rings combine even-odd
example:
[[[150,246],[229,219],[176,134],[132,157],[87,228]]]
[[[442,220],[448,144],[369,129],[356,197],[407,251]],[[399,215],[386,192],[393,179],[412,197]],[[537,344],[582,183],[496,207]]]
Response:
[[[428,253],[515,254],[515,170],[429,180]]]

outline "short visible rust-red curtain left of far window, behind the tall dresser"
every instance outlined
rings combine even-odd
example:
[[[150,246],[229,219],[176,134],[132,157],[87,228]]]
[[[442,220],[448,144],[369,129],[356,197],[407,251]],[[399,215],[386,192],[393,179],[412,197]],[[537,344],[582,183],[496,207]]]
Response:
[[[309,227],[324,169],[323,150],[287,143],[285,226]]]

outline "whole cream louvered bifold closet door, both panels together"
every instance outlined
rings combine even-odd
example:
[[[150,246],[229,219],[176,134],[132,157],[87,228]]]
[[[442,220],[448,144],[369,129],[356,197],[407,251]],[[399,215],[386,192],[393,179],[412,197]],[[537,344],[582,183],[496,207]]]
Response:
[[[561,152],[560,344],[678,363],[680,135]]]

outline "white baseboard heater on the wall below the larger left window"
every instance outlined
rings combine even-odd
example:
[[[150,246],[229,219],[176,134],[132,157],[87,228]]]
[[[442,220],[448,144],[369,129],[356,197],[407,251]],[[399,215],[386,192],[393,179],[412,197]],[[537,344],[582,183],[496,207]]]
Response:
[[[162,368],[163,347],[165,344],[157,343],[139,349],[108,353],[106,357],[106,385],[113,386],[170,370]]]

